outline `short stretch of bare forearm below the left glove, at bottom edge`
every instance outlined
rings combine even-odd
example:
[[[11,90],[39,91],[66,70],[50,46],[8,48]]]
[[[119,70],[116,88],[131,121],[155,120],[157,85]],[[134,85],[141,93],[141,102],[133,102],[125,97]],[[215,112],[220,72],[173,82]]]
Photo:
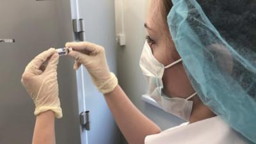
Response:
[[[32,144],[55,144],[54,112],[46,111],[36,116]]]

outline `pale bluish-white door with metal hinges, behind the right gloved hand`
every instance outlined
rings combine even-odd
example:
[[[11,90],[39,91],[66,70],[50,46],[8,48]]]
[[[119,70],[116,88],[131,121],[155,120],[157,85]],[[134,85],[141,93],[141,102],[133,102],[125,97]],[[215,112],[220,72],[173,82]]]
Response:
[[[84,19],[86,41],[105,47],[109,68],[116,72],[115,3],[113,0],[77,0],[76,19]],[[90,131],[81,129],[83,144],[119,144],[120,132],[102,93],[93,86],[86,68],[77,71],[79,111],[90,111]],[[81,104],[84,104],[83,106]]]

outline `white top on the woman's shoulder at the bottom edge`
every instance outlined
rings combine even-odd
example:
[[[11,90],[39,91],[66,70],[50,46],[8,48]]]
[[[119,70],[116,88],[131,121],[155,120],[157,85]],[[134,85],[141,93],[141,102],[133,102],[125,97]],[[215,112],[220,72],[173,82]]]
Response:
[[[145,138],[145,144],[248,144],[221,118],[215,116],[193,124],[184,123]]]

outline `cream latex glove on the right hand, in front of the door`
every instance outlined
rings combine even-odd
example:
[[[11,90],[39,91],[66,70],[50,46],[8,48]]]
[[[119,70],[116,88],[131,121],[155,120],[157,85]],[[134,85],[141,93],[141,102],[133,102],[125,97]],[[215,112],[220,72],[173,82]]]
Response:
[[[109,72],[105,50],[102,46],[90,42],[70,42],[65,46],[73,49],[68,55],[76,60],[74,69],[83,64],[100,92],[109,93],[114,90],[118,81],[115,74]]]

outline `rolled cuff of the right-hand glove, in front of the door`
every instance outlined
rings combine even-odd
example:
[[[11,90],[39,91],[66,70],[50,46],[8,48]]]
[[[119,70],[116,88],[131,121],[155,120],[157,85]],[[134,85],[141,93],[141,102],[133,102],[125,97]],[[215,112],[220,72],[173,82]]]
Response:
[[[118,84],[118,79],[113,72],[110,72],[109,79],[98,86],[98,90],[103,94],[112,92]]]

